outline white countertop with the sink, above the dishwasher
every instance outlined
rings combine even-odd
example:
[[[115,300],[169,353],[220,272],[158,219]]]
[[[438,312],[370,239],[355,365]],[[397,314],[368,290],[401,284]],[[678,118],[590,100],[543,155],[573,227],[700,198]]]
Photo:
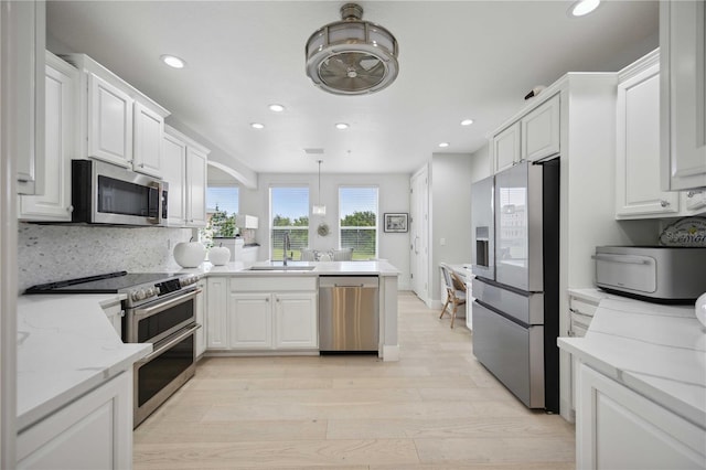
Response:
[[[204,276],[335,276],[335,275],[370,275],[370,276],[399,276],[399,270],[385,260],[375,261],[289,261],[290,268],[313,267],[311,270],[270,271],[270,270],[248,270],[252,266],[281,266],[281,261],[258,261],[242,263],[233,261],[224,266],[213,266],[211,263],[203,263],[197,268],[183,269],[183,273],[193,273]]]

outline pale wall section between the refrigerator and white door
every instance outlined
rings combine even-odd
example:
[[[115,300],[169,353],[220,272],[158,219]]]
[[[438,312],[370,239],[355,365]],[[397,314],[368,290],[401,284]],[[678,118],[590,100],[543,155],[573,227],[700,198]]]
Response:
[[[439,264],[471,261],[471,182],[474,158],[470,153],[434,153],[431,159],[431,289],[440,301]]]

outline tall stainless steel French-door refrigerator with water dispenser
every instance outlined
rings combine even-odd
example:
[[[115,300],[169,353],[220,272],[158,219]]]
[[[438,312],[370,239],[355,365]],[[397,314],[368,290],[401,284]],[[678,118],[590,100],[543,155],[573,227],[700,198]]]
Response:
[[[559,159],[471,188],[473,354],[530,408],[559,412]]]

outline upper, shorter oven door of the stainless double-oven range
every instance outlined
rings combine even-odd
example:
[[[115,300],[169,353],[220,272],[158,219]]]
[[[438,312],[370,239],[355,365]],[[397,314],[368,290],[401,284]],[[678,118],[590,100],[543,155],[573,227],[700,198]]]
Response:
[[[157,343],[196,321],[196,296],[201,289],[179,290],[170,297],[128,309],[126,343]]]

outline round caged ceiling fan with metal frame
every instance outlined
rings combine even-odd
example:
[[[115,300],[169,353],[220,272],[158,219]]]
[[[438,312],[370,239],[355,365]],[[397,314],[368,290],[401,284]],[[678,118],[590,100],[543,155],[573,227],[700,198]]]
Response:
[[[363,8],[356,3],[341,7],[341,18],[307,41],[309,78],[334,95],[362,95],[389,86],[399,72],[395,36],[383,26],[362,21]]]

